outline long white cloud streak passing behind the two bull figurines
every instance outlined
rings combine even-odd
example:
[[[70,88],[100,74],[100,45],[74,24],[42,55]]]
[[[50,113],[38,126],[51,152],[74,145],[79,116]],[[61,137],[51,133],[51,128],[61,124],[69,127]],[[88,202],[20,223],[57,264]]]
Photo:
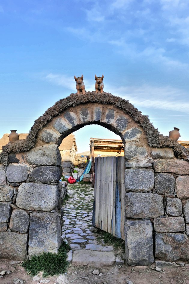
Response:
[[[66,87],[76,92],[76,83],[73,77],[64,74],[48,74],[45,77],[49,82]],[[93,91],[94,82],[85,80],[85,90]],[[151,109],[162,109],[171,111],[181,111],[189,114],[189,94],[181,89],[171,86],[157,87],[149,84],[141,86],[121,86],[115,87],[111,84],[105,84],[105,91],[113,95],[120,96],[129,100],[135,107],[145,107]]]

